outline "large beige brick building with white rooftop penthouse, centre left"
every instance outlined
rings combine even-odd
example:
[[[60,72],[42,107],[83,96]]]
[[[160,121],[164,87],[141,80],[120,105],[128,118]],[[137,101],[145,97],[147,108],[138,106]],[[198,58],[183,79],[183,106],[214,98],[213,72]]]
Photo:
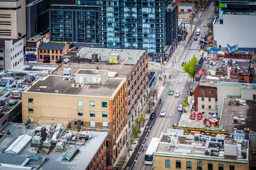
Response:
[[[81,119],[83,130],[108,132],[108,163],[113,164],[126,141],[126,79],[108,78],[106,70],[79,70],[70,80],[64,77],[49,75],[23,92],[23,123],[62,119],[80,128]]]

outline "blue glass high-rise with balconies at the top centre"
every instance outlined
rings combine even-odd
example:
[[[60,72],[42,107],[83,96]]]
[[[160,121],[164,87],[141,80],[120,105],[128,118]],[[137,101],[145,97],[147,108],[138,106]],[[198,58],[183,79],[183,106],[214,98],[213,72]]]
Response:
[[[163,53],[166,45],[176,45],[177,25],[172,0],[76,0],[75,6],[50,8],[52,41]]]

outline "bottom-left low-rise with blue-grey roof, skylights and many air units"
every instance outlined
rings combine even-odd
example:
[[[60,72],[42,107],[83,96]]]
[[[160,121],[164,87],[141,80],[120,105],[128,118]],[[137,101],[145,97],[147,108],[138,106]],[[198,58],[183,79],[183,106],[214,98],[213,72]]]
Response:
[[[2,169],[107,169],[106,132],[70,130],[61,124],[28,127],[12,123],[1,131]]]

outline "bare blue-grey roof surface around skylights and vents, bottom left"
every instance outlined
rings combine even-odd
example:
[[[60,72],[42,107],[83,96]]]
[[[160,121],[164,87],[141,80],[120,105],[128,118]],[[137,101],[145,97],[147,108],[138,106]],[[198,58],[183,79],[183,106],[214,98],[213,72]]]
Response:
[[[8,123],[8,125],[2,129],[2,131],[10,130],[11,135],[10,137],[4,136],[0,140],[0,164],[20,166],[27,158],[30,157],[31,154],[34,154],[40,156],[38,161],[29,160],[25,167],[39,167],[39,170],[84,170],[93,159],[93,156],[96,154],[99,147],[101,147],[102,142],[108,134],[107,132],[90,131],[92,137],[87,140],[85,144],[77,147],[78,150],[70,161],[61,161],[61,159],[64,158],[66,153],[70,150],[70,147],[75,146],[75,144],[70,144],[64,152],[49,152],[48,154],[41,154],[39,153],[41,147],[32,146],[30,141],[18,155],[3,153],[3,151],[6,150],[6,148],[9,147],[18,136],[24,134],[32,137],[35,136],[34,132],[36,127],[37,126],[35,125],[30,125],[26,130],[24,124]],[[35,148],[35,150],[32,150],[32,147]],[[45,162],[46,157],[47,161]]]

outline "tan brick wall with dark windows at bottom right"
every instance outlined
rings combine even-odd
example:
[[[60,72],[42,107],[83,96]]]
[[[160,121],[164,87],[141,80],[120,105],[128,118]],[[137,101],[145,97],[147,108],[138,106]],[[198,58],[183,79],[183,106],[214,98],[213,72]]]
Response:
[[[188,156],[189,157],[189,156]],[[181,158],[178,155],[176,157],[167,157],[167,156],[156,156],[154,155],[154,169],[155,170],[170,170],[169,167],[165,167],[166,159],[171,161],[171,169],[175,170],[176,168],[176,161],[180,161],[181,168],[176,168],[179,170],[187,170],[186,169],[186,161],[191,161],[192,170],[197,170],[197,163],[202,163],[202,170],[208,169],[208,163],[212,163],[213,170],[218,170],[218,164],[224,165],[224,170],[229,170],[230,165],[235,166],[235,170],[249,170],[249,164],[247,163],[237,163],[237,162],[228,162],[228,159],[225,161],[218,161],[218,160],[207,160],[208,158],[196,159],[195,157],[190,156],[189,158]],[[206,159],[206,160],[204,160]]]

